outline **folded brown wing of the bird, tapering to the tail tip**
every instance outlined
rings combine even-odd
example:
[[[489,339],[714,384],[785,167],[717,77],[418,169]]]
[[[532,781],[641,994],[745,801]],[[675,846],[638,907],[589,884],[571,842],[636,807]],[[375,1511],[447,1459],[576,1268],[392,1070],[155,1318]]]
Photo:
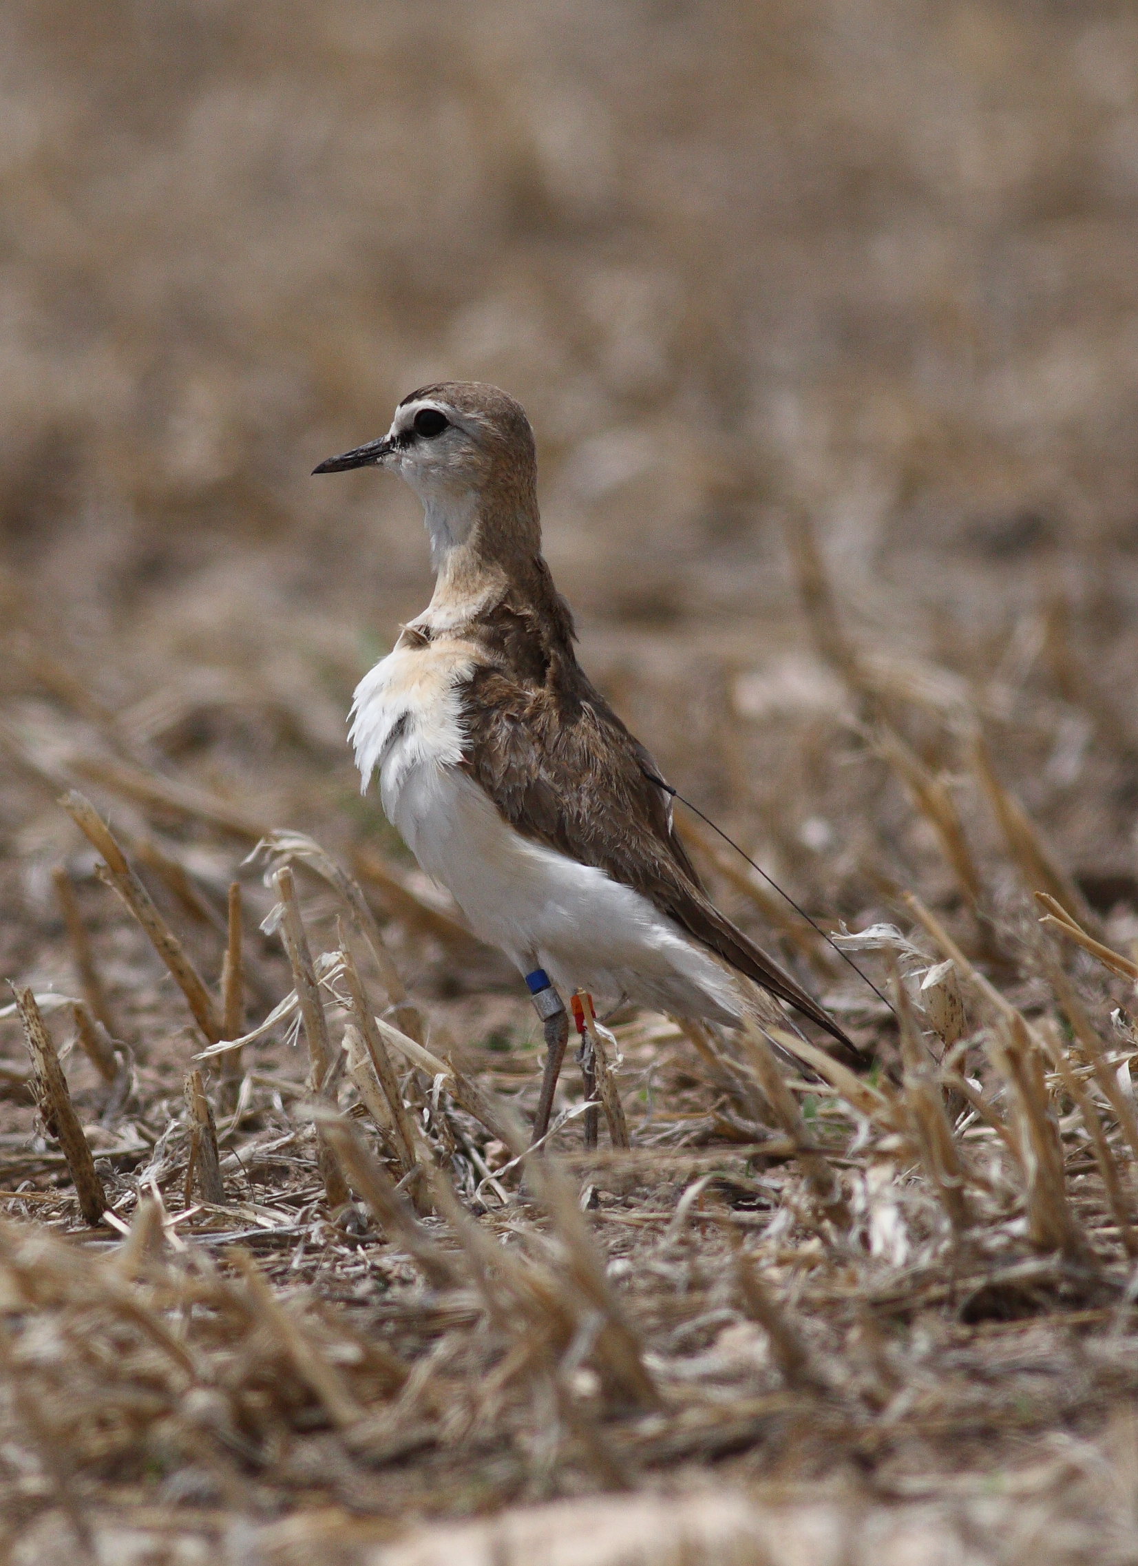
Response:
[[[570,655],[571,658],[571,655]],[[790,974],[711,902],[672,825],[656,763],[576,661],[529,684],[482,666],[462,686],[463,766],[523,836],[642,893],[745,977],[861,1055]]]

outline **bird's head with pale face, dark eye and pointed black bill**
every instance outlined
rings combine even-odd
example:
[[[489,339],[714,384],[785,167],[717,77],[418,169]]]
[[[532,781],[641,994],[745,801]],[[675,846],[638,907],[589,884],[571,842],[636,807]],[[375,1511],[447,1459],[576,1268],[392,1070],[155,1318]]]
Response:
[[[420,387],[394,410],[387,435],[329,457],[313,473],[363,467],[393,468],[410,484],[426,509],[437,562],[479,521],[481,532],[537,528],[534,431],[521,404],[498,387]]]

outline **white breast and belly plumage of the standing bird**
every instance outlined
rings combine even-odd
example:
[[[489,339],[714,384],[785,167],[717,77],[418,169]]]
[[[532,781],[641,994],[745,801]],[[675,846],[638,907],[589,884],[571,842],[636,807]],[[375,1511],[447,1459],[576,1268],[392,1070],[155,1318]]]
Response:
[[[471,662],[456,644],[396,650],[355,694],[363,786],[379,767],[384,811],[423,869],[521,972],[545,968],[564,991],[737,1021],[733,976],[672,919],[604,871],[523,838],[460,770],[456,683]]]

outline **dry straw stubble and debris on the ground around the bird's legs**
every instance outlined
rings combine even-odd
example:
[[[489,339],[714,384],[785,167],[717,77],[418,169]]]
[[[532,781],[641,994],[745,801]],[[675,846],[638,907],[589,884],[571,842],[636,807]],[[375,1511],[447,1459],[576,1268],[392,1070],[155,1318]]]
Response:
[[[822,645],[877,691],[850,637]],[[878,708],[870,764],[928,727],[895,686]],[[939,741],[961,767],[964,717]],[[798,889],[836,946],[784,921],[867,1073],[781,1013],[731,1035],[579,996],[587,1074],[538,1156],[535,1029],[517,985],[445,998],[473,951],[451,911],[424,924],[396,864],[371,900],[351,850],[297,832],[260,835],[258,883],[230,830],[250,811],[194,813],[194,781],[171,828],[164,774],[133,766],[99,806],[63,800],[105,869],[56,839],[61,988],[0,1012],[14,1560],[909,1560],[920,1538],[983,1561],[1008,1530],[1035,1560],[1091,1536],[1132,1558],[1135,963],[991,758],[920,838],[945,879],[916,855],[867,896],[864,857],[845,883],[817,858]],[[941,796],[914,766],[848,800],[866,830],[900,800],[917,832]],[[160,835],[178,875],[138,849]],[[407,1532],[466,1514],[498,1521]]]

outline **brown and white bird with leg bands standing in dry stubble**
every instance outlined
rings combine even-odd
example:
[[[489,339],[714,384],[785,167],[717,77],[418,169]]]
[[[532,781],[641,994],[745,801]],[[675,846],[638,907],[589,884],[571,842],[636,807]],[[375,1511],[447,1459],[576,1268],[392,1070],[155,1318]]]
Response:
[[[545,1135],[568,1041],[564,994],[739,1027],[758,985],[823,1029],[830,1013],[711,900],[661,769],[578,662],[542,554],[537,451],[498,387],[420,387],[387,435],[313,473],[379,467],[423,503],[435,589],[360,681],[349,739],[363,791],[471,930],[523,974],[546,1059]]]

